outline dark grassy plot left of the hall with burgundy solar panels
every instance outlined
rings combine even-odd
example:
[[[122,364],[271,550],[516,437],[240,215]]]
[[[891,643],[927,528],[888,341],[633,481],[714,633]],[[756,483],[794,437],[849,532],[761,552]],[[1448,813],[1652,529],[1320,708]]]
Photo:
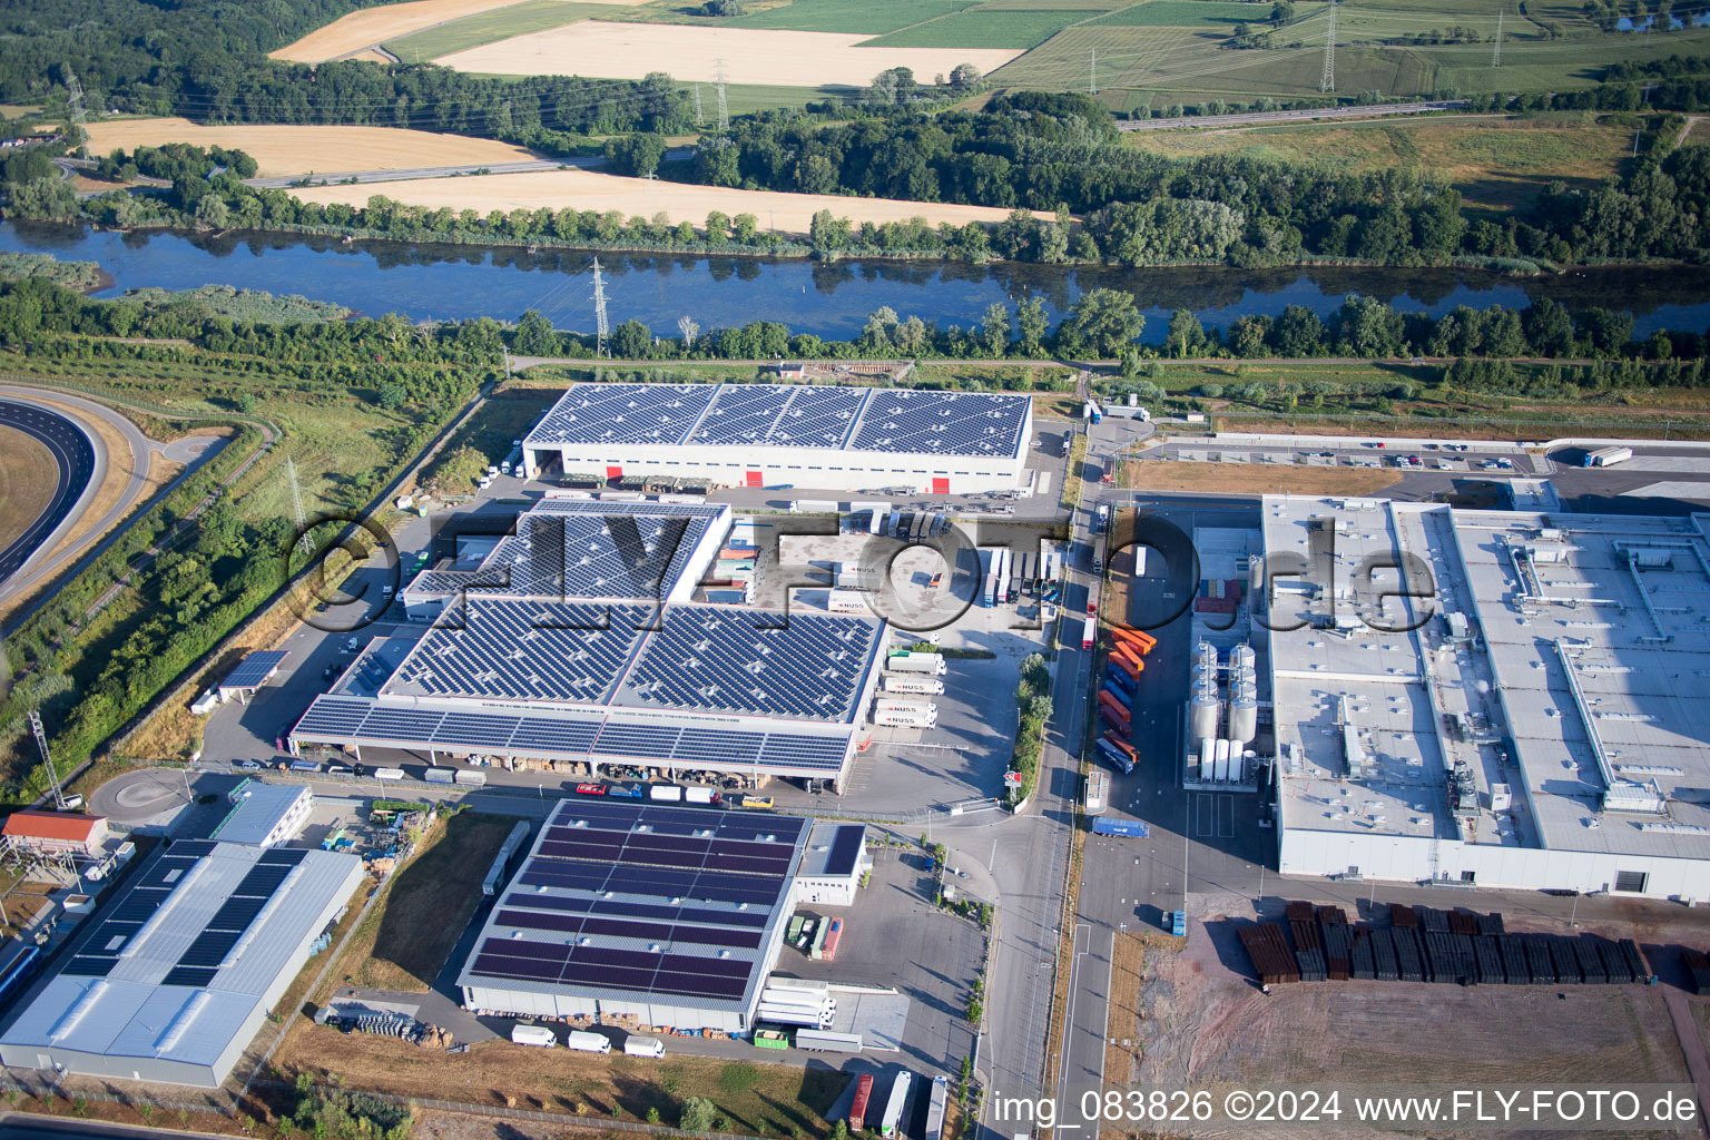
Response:
[[[460,812],[386,884],[339,964],[344,983],[426,993],[481,901],[515,819]]]

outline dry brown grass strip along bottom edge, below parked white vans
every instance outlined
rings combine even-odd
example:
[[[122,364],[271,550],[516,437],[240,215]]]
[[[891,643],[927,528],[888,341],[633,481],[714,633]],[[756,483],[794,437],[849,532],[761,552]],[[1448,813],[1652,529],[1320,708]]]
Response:
[[[504,1039],[446,1056],[397,1037],[344,1034],[308,1019],[292,1027],[275,1065],[289,1078],[299,1072],[339,1073],[352,1089],[405,1097],[628,1121],[645,1119],[655,1108],[667,1125],[677,1121],[687,1097],[703,1096],[730,1118],[734,1131],[758,1137],[788,1137],[793,1128],[824,1135],[821,1114],[850,1080],[817,1067],[800,1070],[687,1056],[657,1061],[621,1053],[534,1049]]]

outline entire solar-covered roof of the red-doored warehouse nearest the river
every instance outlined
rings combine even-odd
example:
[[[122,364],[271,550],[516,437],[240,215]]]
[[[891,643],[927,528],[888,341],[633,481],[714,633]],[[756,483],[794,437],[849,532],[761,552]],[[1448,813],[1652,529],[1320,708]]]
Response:
[[[1024,395],[802,385],[575,385],[525,446],[682,444],[1014,456]]]

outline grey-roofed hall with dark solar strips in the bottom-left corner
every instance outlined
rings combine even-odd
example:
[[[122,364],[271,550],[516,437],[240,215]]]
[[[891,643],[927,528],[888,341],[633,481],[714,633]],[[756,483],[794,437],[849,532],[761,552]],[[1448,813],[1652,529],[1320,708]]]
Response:
[[[217,1087],[361,879],[354,855],[173,843],[62,952],[0,1060]]]

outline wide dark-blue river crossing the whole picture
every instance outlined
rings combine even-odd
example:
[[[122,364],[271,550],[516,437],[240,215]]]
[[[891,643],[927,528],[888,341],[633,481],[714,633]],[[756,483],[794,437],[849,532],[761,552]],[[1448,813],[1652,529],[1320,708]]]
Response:
[[[298,234],[109,232],[87,227],[0,224],[0,250],[96,261],[113,285],[96,296],[159,285],[236,285],[333,301],[361,314],[515,320],[540,309],[559,328],[593,325],[593,255],[585,250],[352,243]],[[940,326],[973,325],[988,304],[1038,294],[1053,321],[1086,289],[1134,294],[1146,313],[1144,342],[1161,344],[1170,313],[1194,309],[1206,325],[1228,326],[1243,313],[1276,316],[1305,304],[1320,316],[1351,292],[1400,311],[1442,314],[1457,304],[1520,308],[1549,296],[1582,309],[1631,313],[1635,335],[1657,328],[1710,326],[1710,267],[1597,268],[1551,277],[1486,270],[1306,267],[1284,270],[1110,268],[997,261],[708,256],[699,253],[600,253],[612,325],[640,320],[675,335],[687,316],[701,330],[752,320],[783,321],[797,333],[848,338],[867,314],[889,306]]]

